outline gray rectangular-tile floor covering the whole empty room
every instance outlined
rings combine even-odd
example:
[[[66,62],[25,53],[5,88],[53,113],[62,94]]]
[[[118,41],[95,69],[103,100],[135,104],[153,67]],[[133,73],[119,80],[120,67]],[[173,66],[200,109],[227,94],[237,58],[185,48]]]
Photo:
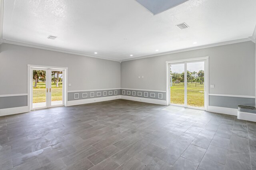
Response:
[[[0,169],[254,170],[256,123],[114,100],[0,117]]]

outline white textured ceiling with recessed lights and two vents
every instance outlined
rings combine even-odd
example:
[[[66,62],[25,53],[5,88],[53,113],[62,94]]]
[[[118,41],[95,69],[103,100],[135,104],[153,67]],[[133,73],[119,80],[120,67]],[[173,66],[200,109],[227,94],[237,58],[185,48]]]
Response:
[[[255,9],[256,0],[189,0],[152,15],[136,0],[4,0],[3,39],[123,60],[248,38]]]

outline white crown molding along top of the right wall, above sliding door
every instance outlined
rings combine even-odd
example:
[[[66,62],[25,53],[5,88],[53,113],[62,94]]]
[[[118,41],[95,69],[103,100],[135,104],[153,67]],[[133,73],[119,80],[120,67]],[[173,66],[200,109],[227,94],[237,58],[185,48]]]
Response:
[[[141,57],[122,59],[121,61],[130,61],[130,60],[135,60],[135,59],[156,57],[156,56],[160,56],[160,55],[180,53],[180,52],[184,52],[184,51],[192,51],[195,49],[204,49],[204,48],[217,47],[217,46],[221,46],[221,45],[228,45],[228,44],[248,42],[248,41],[251,41],[250,38],[243,38],[243,39],[239,39],[239,40],[231,40],[231,41],[227,41],[227,42],[212,43],[212,44],[208,44],[208,45],[201,45],[198,47],[184,48],[184,49],[178,49],[178,50],[168,51],[168,52],[164,52],[164,53],[157,53],[157,54],[145,55],[145,56],[141,56]]]

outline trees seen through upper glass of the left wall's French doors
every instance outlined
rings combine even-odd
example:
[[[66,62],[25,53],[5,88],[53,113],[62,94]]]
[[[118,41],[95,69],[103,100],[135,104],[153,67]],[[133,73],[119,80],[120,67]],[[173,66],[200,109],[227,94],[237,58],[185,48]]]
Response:
[[[46,71],[44,70],[33,70],[33,79],[35,80],[34,87],[37,86],[39,81],[45,82]],[[59,81],[62,81],[62,71],[52,71],[52,82],[56,83],[56,87],[59,85]]]

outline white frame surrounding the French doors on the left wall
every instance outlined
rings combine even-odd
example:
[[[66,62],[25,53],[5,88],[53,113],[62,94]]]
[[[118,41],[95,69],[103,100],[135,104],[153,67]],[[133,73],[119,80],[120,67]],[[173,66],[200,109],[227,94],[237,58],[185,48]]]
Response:
[[[33,69],[42,69],[42,70],[47,70],[47,69],[52,69],[52,70],[61,70],[63,71],[63,76],[64,76],[64,81],[62,82],[62,99],[63,99],[63,104],[64,106],[67,105],[68,103],[68,67],[54,67],[54,66],[45,66],[45,65],[30,65],[28,64],[28,107],[29,107],[29,111],[32,110],[32,88],[31,88],[31,83],[32,83],[32,71]],[[50,74],[50,73],[48,73]],[[47,83],[47,81],[46,81]],[[47,86],[46,86],[47,87]],[[49,90],[49,89],[48,89]],[[50,95],[49,95],[50,96]],[[48,94],[46,94],[46,97],[48,97]],[[49,99],[50,97],[48,97]],[[50,100],[48,100],[50,101]],[[56,105],[57,107],[58,105]],[[39,109],[39,108],[38,108]]]

